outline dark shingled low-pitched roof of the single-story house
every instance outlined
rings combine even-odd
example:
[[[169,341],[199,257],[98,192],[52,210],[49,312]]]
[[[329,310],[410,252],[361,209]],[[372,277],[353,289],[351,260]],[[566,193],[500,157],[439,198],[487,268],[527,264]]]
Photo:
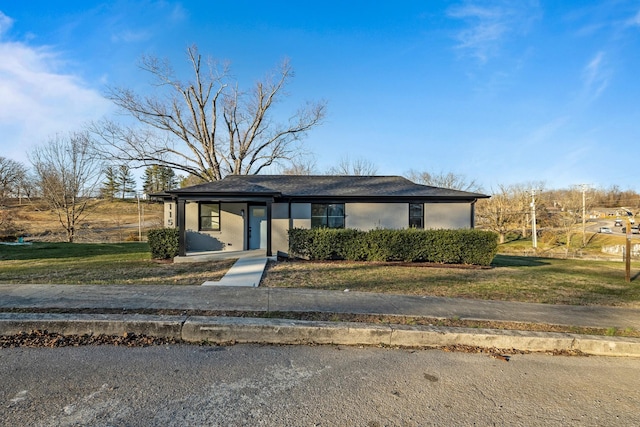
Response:
[[[177,196],[477,199],[488,196],[416,184],[401,176],[230,175],[220,181],[169,190]]]

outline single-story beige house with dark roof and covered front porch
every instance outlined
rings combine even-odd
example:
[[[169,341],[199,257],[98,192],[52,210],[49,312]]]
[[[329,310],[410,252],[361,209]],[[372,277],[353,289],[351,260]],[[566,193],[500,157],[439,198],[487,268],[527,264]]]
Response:
[[[330,175],[232,175],[156,196],[165,202],[165,227],[180,230],[181,256],[287,253],[292,228],[473,228],[475,202],[489,197],[400,176]]]

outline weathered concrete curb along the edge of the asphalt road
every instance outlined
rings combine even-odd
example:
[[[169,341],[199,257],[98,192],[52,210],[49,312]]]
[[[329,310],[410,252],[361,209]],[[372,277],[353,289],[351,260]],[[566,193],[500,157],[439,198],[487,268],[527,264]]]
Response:
[[[467,345],[531,352],[580,351],[597,356],[640,357],[638,338],[557,332],[239,317],[0,313],[0,335],[14,335],[31,330],[47,330],[63,335],[122,335],[125,332],[133,332],[191,343],[392,347]]]

